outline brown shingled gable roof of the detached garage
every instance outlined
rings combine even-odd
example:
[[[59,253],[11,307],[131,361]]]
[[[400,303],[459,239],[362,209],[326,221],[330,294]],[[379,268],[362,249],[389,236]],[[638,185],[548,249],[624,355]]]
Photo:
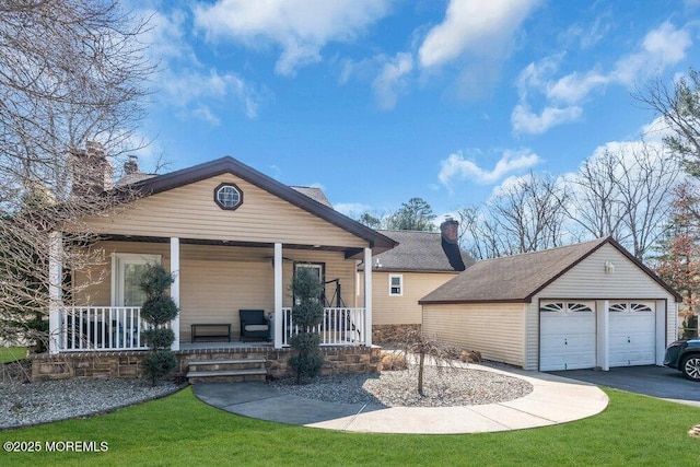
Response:
[[[682,297],[610,237],[502,258],[485,259],[435,289],[418,303],[529,303],[534,295],[564,272],[610,244],[662,288]]]

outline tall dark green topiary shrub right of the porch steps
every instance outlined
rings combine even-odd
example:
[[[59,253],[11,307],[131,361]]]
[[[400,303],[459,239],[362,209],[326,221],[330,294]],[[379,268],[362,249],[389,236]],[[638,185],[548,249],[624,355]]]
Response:
[[[319,299],[323,287],[318,278],[306,268],[299,268],[292,281],[292,320],[300,331],[290,338],[289,343],[296,353],[290,357],[288,363],[296,373],[296,384],[301,384],[303,377],[316,376],[324,364],[318,347],[320,336],[313,331],[324,317],[324,305]]]

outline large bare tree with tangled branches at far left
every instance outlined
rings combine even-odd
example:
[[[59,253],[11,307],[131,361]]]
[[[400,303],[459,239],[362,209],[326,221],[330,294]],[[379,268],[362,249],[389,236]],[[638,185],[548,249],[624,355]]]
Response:
[[[133,141],[154,71],[140,42],[147,23],[116,0],[0,2],[0,331],[5,337],[18,330],[30,339],[42,336],[23,324],[35,317],[45,324],[51,230],[67,233],[65,270],[89,270],[101,258],[85,248],[93,236],[80,220],[118,201],[101,194],[113,177],[105,155],[141,144]],[[55,285],[70,292],[69,280],[66,273]]]

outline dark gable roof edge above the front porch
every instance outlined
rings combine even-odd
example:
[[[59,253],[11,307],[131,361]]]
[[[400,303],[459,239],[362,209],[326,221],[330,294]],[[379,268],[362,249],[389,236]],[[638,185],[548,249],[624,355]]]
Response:
[[[366,241],[372,247],[374,254],[385,252],[396,246],[396,242],[392,238],[386,237],[366,225],[341,214],[332,209],[330,203],[326,205],[323,201],[319,202],[318,200],[302,192],[302,190],[281,184],[229,155],[188,168],[183,168],[180,171],[136,182],[129,186],[129,189],[135,190],[142,197],[147,197],[201,182],[221,174],[235,175],[280,199],[283,199],[284,201],[288,201],[291,205],[294,205],[298,208],[301,208],[311,214]],[[308,192],[308,190],[306,191]],[[323,198],[325,198],[325,195]],[[360,252],[347,252],[346,255],[350,257]]]

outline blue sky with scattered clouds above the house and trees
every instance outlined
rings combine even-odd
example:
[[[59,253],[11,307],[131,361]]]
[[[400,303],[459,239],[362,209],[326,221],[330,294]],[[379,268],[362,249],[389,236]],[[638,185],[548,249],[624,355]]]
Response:
[[[637,89],[700,67],[700,0],[136,8],[161,68],[142,168],[231,155],[349,214],[420,197],[442,218],[530,170],[573,172],[653,122]]]

